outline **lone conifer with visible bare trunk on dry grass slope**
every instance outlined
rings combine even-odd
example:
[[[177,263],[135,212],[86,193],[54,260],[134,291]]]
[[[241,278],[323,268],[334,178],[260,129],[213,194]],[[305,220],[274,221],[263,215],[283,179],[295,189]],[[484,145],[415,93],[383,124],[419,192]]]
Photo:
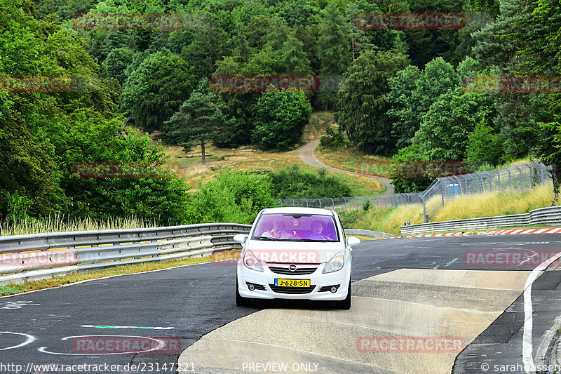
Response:
[[[215,142],[221,136],[221,130],[230,120],[222,114],[222,104],[217,95],[210,92],[210,83],[203,79],[189,100],[184,102],[179,112],[165,122],[168,137],[189,152],[195,145],[201,145],[203,165],[206,165],[205,145]]]

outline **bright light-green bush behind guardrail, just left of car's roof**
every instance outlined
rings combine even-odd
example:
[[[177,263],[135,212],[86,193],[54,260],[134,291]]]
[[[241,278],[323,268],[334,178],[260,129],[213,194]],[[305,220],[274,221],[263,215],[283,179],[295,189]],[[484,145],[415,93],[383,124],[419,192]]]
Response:
[[[266,175],[226,169],[192,196],[186,220],[251,224],[259,211],[273,206],[271,183]]]

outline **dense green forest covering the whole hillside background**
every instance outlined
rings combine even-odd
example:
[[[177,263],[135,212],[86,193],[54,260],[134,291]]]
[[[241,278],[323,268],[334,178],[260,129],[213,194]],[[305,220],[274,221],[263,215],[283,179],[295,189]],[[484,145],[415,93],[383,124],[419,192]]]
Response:
[[[179,15],[180,27],[76,27],[83,14],[126,13]],[[367,29],[357,22],[364,13],[464,13],[466,23]],[[261,208],[271,203],[262,176],[224,173],[191,196],[164,167],[165,178],[92,179],[76,178],[76,163],[163,166],[163,149],[131,125],[184,149],[288,149],[314,109],[335,112],[331,135],[363,152],[481,168],[530,156],[553,166],[558,189],[558,84],[557,93],[496,93],[464,82],[560,75],[560,30],[558,0],[0,0],[0,219],[62,212],[176,224],[218,220],[203,214],[210,205]],[[327,92],[212,86],[214,76],[257,75],[341,81]],[[74,85],[6,88],[13,76],[69,76]],[[209,202],[228,181],[239,193]],[[415,192],[427,181],[394,185]]]

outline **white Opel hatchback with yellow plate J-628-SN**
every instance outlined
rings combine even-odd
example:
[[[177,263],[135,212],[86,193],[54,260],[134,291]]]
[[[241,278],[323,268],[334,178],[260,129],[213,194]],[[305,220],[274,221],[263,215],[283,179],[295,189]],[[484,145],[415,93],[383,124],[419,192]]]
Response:
[[[251,299],[334,300],[351,307],[351,246],[334,211],[269,208],[257,215],[242,243],[236,277],[236,304]]]

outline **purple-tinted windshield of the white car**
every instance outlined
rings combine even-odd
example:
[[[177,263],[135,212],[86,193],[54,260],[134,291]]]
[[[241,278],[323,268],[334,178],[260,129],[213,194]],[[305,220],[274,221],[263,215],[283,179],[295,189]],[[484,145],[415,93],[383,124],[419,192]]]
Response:
[[[319,214],[264,214],[253,239],[278,241],[339,241],[333,217]]]

